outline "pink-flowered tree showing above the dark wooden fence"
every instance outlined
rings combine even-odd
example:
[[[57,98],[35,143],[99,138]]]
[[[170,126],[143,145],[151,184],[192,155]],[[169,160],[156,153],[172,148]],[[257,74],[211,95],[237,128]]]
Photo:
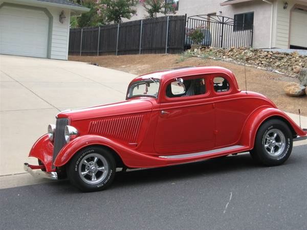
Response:
[[[173,0],[140,0],[150,18],[157,17],[159,13],[175,14],[177,4]]]

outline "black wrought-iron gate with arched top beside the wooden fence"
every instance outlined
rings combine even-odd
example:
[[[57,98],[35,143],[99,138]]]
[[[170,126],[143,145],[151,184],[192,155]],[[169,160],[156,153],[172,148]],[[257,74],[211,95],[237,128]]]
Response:
[[[186,46],[193,42],[187,35],[191,30],[200,29],[204,38],[202,45],[214,48],[251,48],[253,45],[253,27],[240,30],[233,18],[218,15],[194,15],[187,18]]]

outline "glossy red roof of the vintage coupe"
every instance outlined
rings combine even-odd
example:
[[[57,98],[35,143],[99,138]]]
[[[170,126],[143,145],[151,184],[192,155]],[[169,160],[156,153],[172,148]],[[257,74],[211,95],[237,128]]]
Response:
[[[136,77],[133,80],[133,82],[139,80],[146,80],[150,78],[159,79],[165,82],[177,77],[200,75],[200,74],[215,74],[215,73],[225,74],[230,78],[232,78],[231,80],[234,80],[234,82],[236,82],[233,73],[227,68],[220,66],[187,66],[187,67],[174,68],[171,70],[156,71]]]

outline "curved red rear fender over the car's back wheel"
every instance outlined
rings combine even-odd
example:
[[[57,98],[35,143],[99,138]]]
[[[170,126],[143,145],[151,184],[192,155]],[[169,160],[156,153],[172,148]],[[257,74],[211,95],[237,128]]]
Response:
[[[260,125],[269,118],[281,118],[287,121],[292,127],[295,133],[299,136],[306,136],[307,133],[304,132],[286,113],[283,111],[272,108],[272,107],[261,107],[254,111],[245,123],[240,143],[244,146],[249,146],[250,149],[254,148],[255,137],[257,130]],[[291,128],[289,127],[289,128]]]

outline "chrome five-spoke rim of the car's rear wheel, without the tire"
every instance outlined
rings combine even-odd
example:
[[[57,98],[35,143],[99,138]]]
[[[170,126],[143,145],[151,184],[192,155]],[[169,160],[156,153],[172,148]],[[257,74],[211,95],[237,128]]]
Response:
[[[286,146],[286,138],[279,129],[271,129],[265,137],[265,149],[270,156],[279,156]]]

